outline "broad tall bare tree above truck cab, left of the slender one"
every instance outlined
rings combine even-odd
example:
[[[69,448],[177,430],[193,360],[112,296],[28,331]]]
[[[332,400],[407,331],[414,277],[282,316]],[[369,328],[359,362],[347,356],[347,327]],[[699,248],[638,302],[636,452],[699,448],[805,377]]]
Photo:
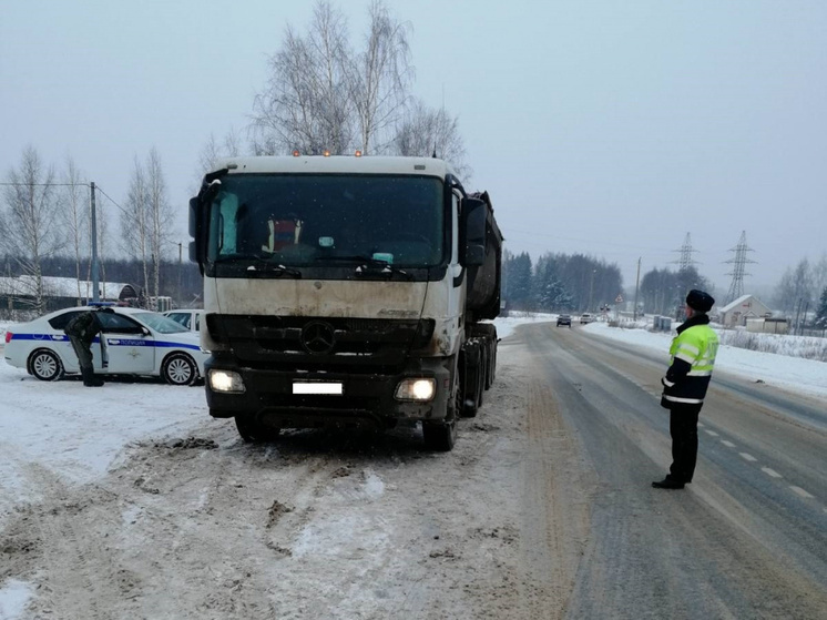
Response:
[[[287,26],[284,48],[269,59],[267,87],[253,105],[256,154],[341,154],[350,148],[349,55],[346,20],[327,0],[316,3],[306,37]]]

